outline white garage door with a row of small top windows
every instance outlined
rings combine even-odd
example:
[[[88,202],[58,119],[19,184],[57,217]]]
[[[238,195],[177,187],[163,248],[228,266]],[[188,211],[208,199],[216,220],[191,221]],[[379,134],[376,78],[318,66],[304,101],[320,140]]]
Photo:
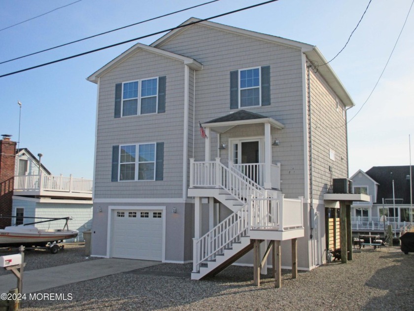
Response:
[[[162,260],[162,211],[114,210],[112,213],[112,257]]]

